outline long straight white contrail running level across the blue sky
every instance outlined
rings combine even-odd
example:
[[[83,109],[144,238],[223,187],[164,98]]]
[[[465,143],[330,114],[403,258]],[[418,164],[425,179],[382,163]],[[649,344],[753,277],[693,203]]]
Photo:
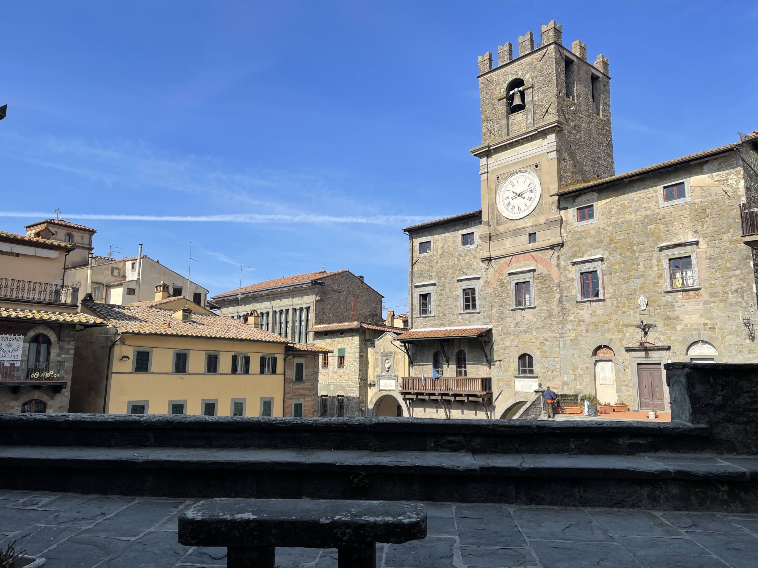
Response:
[[[0,217],[42,217],[50,218],[49,213],[41,211],[0,211]],[[110,215],[97,213],[65,213],[65,219],[92,219],[111,221],[183,221],[189,223],[364,223],[370,225],[403,225],[406,223],[424,223],[437,217],[420,217],[413,215],[373,215],[344,216],[331,215],[266,215],[255,213],[224,215]]]

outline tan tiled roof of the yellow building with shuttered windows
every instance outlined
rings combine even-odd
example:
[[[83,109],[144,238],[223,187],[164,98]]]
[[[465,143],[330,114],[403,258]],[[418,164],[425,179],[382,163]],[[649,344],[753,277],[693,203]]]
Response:
[[[175,300],[176,298],[174,298]],[[118,329],[120,333],[183,335],[214,339],[287,343],[280,335],[248,326],[232,317],[192,314],[192,322],[175,320],[174,312],[158,307],[127,304],[86,304],[90,310]]]

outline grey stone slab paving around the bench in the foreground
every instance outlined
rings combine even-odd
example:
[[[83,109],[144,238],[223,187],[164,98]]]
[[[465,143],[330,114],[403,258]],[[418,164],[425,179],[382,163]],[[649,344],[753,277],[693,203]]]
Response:
[[[221,568],[224,548],[186,547],[196,501],[0,490],[0,547],[45,568]],[[758,514],[429,503],[428,536],[377,545],[380,568],[755,568]],[[337,568],[337,551],[277,548],[282,568]]]

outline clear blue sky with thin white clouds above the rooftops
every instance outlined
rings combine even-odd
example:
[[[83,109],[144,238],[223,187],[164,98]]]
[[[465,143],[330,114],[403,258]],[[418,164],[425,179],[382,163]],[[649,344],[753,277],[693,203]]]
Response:
[[[552,18],[610,59],[617,173],[758,129],[756,2],[520,4],[5,2],[0,229],[61,208],[97,254],[192,241],[212,293],[325,265],[405,311],[402,227],[480,207],[477,56]]]

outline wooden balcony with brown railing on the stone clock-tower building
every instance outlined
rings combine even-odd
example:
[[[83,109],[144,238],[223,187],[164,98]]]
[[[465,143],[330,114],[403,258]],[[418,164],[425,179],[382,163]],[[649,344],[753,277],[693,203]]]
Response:
[[[402,398],[412,401],[489,402],[492,400],[492,378],[489,376],[443,376],[431,379],[404,376],[400,387]]]

